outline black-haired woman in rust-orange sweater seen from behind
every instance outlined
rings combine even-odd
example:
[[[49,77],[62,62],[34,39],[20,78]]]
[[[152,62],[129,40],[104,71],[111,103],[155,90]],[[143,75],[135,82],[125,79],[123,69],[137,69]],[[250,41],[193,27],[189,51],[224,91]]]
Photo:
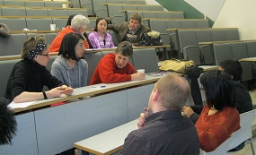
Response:
[[[196,123],[200,148],[215,151],[240,128],[240,116],[234,108],[234,82],[228,73],[218,70],[202,74],[200,82],[207,99]]]

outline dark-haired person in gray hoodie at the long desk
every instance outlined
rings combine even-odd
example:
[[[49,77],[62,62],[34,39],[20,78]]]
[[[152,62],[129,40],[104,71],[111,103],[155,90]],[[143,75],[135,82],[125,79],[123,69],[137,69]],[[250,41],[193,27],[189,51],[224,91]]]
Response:
[[[72,88],[86,86],[88,64],[83,59],[84,51],[84,38],[81,34],[66,34],[62,39],[58,56],[51,65],[51,73]]]

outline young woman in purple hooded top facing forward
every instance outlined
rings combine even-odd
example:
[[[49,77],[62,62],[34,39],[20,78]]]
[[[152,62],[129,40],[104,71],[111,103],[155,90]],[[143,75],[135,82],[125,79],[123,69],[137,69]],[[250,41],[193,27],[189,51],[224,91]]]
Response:
[[[93,48],[111,48],[114,47],[112,37],[106,32],[108,21],[105,18],[99,17],[96,20],[94,31],[89,34],[88,39],[93,45]]]

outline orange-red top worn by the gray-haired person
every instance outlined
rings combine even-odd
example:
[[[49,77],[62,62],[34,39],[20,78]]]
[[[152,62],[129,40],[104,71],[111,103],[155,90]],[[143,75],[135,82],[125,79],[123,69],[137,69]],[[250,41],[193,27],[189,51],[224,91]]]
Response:
[[[64,36],[67,34],[67,33],[70,33],[70,32],[73,32],[73,33],[76,33],[74,29],[70,28],[70,25],[66,26],[66,28],[64,28],[63,30],[61,30],[58,34],[57,34],[57,37],[51,42],[51,45],[49,47],[49,52],[58,52],[59,50],[59,47],[61,45],[61,41],[62,39],[64,38]],[[89,48],[89,44],[86,40],[84,40],[84,47],[86,49]]]

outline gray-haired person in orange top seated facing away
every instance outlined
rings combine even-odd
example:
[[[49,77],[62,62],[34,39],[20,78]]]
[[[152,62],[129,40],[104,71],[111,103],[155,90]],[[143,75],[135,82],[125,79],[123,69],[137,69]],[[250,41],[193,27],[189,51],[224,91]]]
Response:
[[[70,33],[70,32],[78,33],[84,37],[84,33],[89,23],[90,21],[88,20],[88,18],[84,17],[84,15],[81,15],[81,14],[75,15],[75,17],[71,21],[71,25],[68,25],[66,26],[65,29],[61,30],[57,34],[57,37],[52,41],[49,47],[49,52],[58,52],[61,41],[67,33]],[[86,49],[89,48],[89,44],[87,42],[87,39],[85,38],[84,38],[84,47]]]

